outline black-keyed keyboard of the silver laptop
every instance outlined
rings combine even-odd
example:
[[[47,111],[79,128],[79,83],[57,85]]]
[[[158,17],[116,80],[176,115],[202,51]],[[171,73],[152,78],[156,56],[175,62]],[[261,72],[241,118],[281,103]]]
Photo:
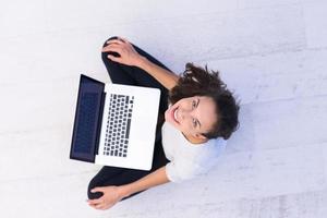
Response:
[[[104,155],[126,157],[134,96],[110,94]]]

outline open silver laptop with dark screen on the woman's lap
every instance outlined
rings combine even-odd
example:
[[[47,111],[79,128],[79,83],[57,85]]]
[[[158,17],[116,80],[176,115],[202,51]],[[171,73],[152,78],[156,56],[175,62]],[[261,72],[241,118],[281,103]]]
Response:
[[[160,89],[81,74],[70,158],[150,170]]]

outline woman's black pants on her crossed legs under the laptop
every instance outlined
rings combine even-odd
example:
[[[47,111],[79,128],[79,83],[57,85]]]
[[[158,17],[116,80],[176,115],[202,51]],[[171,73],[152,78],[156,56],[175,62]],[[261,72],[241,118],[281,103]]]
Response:
[[[111,37],[117,38],[117,37]],[[111,39],[110,38],[110,39]],[[107,44],[105,43],[104,46]],[[133,45],[134,46],[134,45]],[[156,60],[150,55],[146,53],[138,47],[134,46],[134,49],[142,56],[146,57],[152,62],[169,70],[158,60]],[[117,53],[112,53],[117,56]],[[123,185],[134,181],[140,180],[141,178],[152,173],[160,167],[166,166],[169,161],[164,153],[162,144],[161,144],[161,126],[164,123],[165,111],[168,108],[168,90],[165,88],[158,81],[156,81],[153,76],[150,76],[147,72],[141,70],[136,66],[129,66],[118,62],[113,62],[107,58],[108,52],[102,52],[102,61],[107,68],[109,76],[112,83],[116,84],[125,84],[125,85],[136,85],[136,86],[146,86],[146,87],[156,87],[160,88],[160,106],[159,106],[159,114],[158,114],[158,123],[156,130],[156,141],[155,141],[155,150],[154,150],[154,160],[153,167],[149,171],[145,170],[134,170],[126,168],[118,168],[118,167],[104,167],[89,182],[87,195],[89,199],[98,198],[102,196],[102,193],[92,193],[90,190],[96,186],[108,186],[108,185]],[[146,134],[146,133],[144,133]],[[141,192],[138,192],[141,193]],[[138,193],[134,193],[131,196],[134,196]],[[131,197],[129,196],[129,197]],[[129,198],[125,197],[125,198]],[[123,198],[123,199],[125,199]]]

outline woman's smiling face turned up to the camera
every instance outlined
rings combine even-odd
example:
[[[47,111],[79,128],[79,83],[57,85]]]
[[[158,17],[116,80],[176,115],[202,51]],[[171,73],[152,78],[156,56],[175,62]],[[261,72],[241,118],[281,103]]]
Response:
[[[186,137],[205,140],[201,133],[210,131],[216,122],[216,105],[207,96],[182,98],[166,110],[165,119]]]

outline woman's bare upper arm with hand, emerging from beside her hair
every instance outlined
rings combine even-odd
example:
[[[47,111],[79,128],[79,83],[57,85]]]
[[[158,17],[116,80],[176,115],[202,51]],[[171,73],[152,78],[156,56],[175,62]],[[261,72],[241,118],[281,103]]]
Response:
[[[135,65],[146,71],[155,77],[167,89],[171,89],[177,85],[179,76],[174,73],[153,63],[147,58],[141,56],[126,39],[119,37],[119,39],[110,39],[107,41],[108,46],[104,47],[104,52],[118,52],[120,57],[108,55],[112,61],[123,63],[126,65]]]

